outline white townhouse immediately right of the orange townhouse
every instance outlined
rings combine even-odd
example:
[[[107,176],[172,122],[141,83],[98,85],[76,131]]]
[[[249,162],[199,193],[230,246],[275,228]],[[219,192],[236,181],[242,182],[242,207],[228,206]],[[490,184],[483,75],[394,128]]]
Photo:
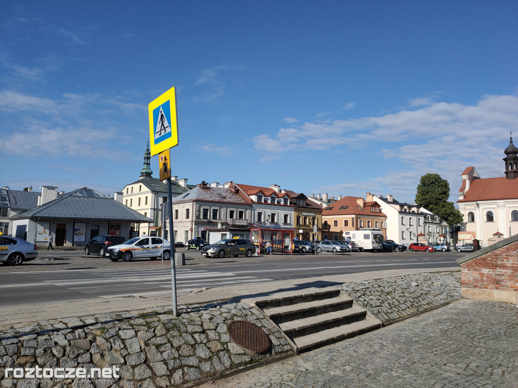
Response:
[[[418,234],[424,234],[424,215],[421,206],[398,202],[390,194],[386,198],[367,193],[367,201],[375,201],[386,214],[386,238],[398,244],[410,245],[418,242]]]

